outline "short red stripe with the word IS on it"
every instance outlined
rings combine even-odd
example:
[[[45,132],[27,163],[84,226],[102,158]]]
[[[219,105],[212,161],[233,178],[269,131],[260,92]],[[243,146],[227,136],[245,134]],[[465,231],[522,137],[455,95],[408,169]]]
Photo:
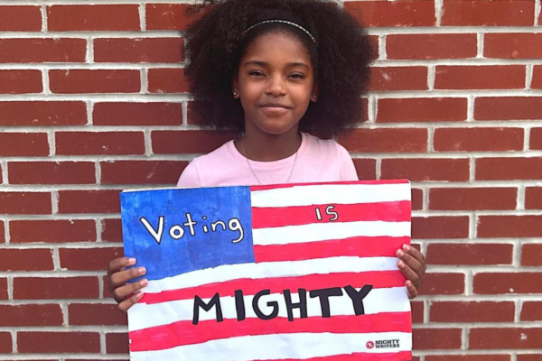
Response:
[[[252,227],[268,228],[374,220],[384,222],[410,222],[410,200],[333,205],[330,212],[336,212],[338,216],[326,214],[326,209],[329,206],[330,205],[274,208],[253,207]],[[320,210],[320,218],[322,218],[320,220],[318,219],[316,208]]]

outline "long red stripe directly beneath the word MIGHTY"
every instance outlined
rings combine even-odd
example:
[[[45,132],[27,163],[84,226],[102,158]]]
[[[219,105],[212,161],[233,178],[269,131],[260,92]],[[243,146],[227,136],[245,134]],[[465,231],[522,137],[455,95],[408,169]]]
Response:
[[[410,312],[389,312],[363,316],[334,316],[329,319],[310,317],[307,319],[286,318],[224,319],[201,321],[192,325],[191,320],[177,321],[169,325],[139,329],[129,333],[130,351],[154,351],[185,345],[241,336],[310,333],[369,333],[411,332]]]

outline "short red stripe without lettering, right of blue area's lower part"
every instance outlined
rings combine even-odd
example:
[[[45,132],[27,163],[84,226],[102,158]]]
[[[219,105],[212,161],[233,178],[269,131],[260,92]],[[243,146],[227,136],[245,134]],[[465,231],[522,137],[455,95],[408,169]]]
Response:
[[[397,249],[402,245],[410,245],[410,237],[356,236],[287,245],[254,245],[254,257],[257,263],[339,256],[395,257]]]

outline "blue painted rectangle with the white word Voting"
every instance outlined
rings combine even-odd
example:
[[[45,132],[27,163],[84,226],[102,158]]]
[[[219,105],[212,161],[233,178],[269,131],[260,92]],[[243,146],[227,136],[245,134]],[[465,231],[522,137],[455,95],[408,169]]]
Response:
[[[255,262],[249,187],[123,192],[121,215],[125,255],[148,280]]]

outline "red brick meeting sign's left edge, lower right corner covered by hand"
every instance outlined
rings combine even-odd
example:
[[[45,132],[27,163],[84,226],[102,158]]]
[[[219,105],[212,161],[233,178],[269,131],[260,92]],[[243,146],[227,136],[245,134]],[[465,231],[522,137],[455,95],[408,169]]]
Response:
[[[70,271],[107,271],[109,261],[122,257],[123,248],[61,248],[61,268]]]

